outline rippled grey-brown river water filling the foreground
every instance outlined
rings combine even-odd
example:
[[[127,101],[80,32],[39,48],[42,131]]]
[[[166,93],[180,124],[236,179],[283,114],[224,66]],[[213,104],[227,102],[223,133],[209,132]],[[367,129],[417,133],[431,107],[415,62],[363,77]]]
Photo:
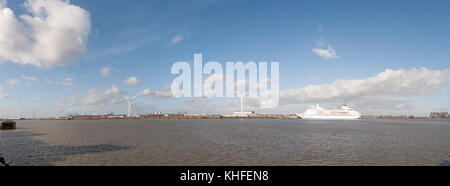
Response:
[[[439,165],[450,120],[19,121],[10,165]]]

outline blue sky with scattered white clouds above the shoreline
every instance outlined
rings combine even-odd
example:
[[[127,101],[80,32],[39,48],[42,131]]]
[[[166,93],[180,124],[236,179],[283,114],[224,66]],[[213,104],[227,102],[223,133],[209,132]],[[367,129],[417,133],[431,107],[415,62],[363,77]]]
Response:
[[[227,114],[237,98],[173,98],[178,61],[280,63],[280,105],[363,115],[450,110],[450,1],[0,0],[0,118]]]

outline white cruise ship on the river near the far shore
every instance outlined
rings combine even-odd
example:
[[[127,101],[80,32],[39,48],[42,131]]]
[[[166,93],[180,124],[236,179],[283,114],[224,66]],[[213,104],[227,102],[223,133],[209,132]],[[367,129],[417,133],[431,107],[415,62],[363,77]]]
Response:
[[[304,113],[297,114],[302,119],[352,120],[361,118],[361,113],[347,105],[328,110],[319,105],[310,106]]]

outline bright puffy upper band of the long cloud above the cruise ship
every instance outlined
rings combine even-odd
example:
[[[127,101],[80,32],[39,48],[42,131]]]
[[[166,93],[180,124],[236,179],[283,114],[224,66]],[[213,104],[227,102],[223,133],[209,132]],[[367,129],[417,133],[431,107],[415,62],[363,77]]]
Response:
[[[383,96],[419,96],[442,90],[450,82],[450,71],[390,70],[367,79],[337,80],[333,84],[310,85],[280,92],[280,104],[352,102]]]

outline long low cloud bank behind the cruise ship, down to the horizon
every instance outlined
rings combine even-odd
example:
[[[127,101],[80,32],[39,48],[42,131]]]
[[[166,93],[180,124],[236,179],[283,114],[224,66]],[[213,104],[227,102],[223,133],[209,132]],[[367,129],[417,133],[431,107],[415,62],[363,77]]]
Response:
[[[309,85],[280,91],[280,106],[260,109],[258,98],[245,98],[245,110],[262,113],[303,112],[312,104],[325,107],[348,103],[363,114],[423,114],[429,112],[414,103],[413,96],[425,96],[442,91],[450,83],[450,71],[421,69],[387,69],[365,79],[337,80],[331,84]],[[184,99],[187,108],[198,113],[227,113],[239,110],[239,99],[211,101],[207,98]]]

